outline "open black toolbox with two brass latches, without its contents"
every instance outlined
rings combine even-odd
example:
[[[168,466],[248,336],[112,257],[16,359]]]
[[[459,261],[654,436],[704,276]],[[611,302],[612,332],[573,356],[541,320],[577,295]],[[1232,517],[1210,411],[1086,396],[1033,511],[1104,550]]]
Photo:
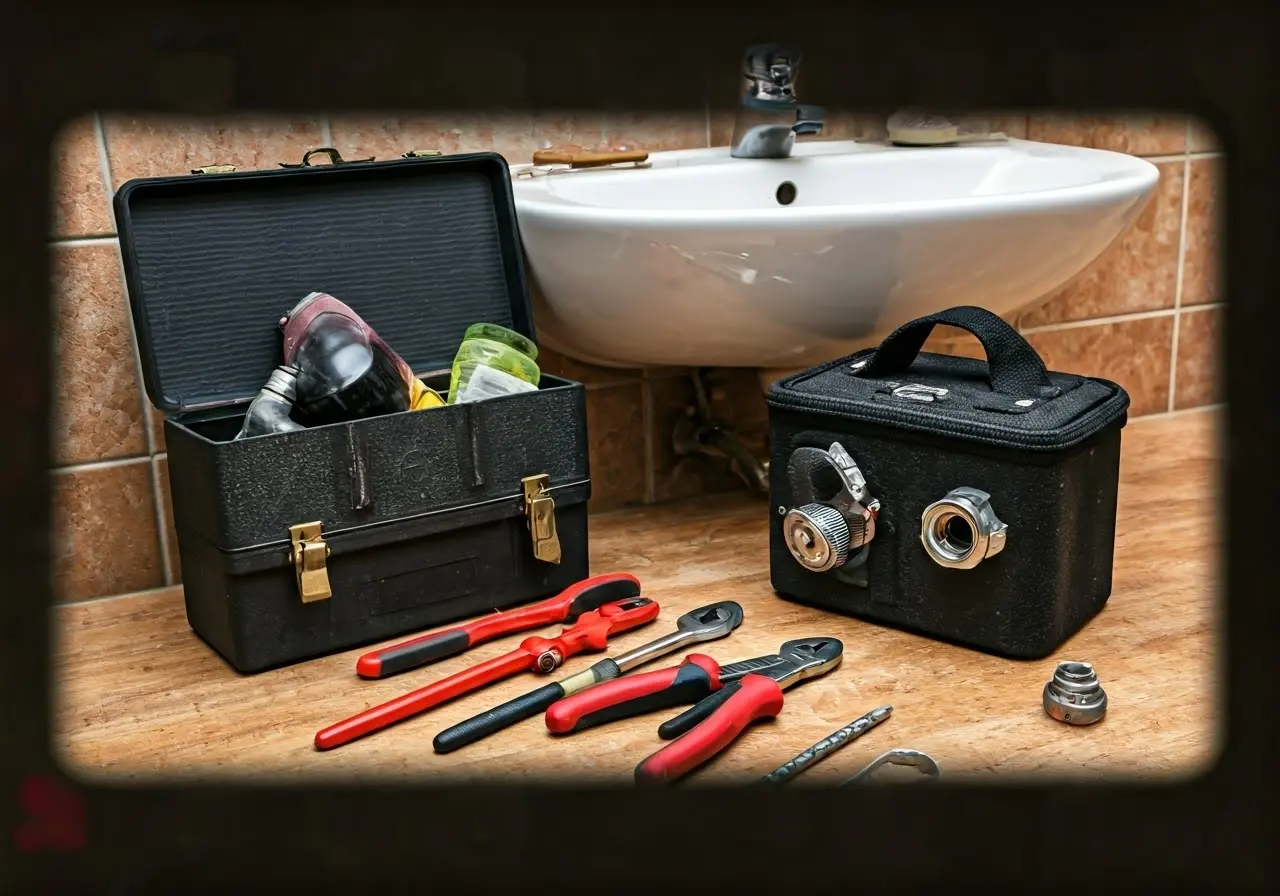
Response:
[[[315,152],[315,151],[314,151]],[[428,385],[472,323],[534,337],[495,154],[131,180],[115,196],[165,420],[187,620],[242,672],[554,594],[588,575],[582,385],[233,442],[307,293]],[[558,557],[557,557],[558,553]]]

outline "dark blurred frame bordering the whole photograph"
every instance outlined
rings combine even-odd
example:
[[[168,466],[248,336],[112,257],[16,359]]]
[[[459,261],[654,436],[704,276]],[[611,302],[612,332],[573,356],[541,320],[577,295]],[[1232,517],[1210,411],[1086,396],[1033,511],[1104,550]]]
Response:
[[[1199,5],[1197,5],[1199,6]],[[945,9],[876,4],[654,6],[310,4],[10,10],[0,41],[0,827],[5,892],[132,893],[300,883],[308,890],[458,886],[669,888],[704,883],[966,883],[1169,891],[1274,879],[1271,663],[1276,579],[1266,520],[1280,506],[1272,392],[1277,69],[1266,4],[1178,9],[995,0]],[[1224,12],[1229,10],[1229,12]],[[49,147],[95,109],[247,110],[713,106],[741,49],[794,41],[814,102],[846,108],[1198,113],[1226,148],[1222,264],[1230,301],[1225,389],[1228,736],[1219,764],[1180,787],[941,787],[788,792],[77,787],[83,849],[24,855],[10,832],[19,783],[60,776],[50,745],[51,385]],[[823,77],[814,69],[820,63]],[[40,337],[40,338],[37,338]],[[1261,508],[1261,512],[1260,512]],[[1206,724],[1215,708],[1206,707]],[[428,749],[424,744],[424,749]],[[581,828],[579,828],[581,826]],[[580,829],[581,835],[568,832]],[[767,860],[765,860],[767,858]],[[398,884],[398,886],[397,886]],[[47,888],[46,888],[47,887]],[[224,890],[225,888],[225,890]],[[681,887],[682,888],[682,887]]]

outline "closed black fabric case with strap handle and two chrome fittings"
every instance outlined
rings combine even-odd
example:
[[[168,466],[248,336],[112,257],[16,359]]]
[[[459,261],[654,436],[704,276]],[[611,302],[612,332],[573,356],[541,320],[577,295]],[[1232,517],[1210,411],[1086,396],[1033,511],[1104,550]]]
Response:
[[[987,361],[922,352],[937,324]],[[780,595],[1023,658],[1106,604],[1115,383],[1048,372],[998,316],[956,307],[774,383],[768,403]]]

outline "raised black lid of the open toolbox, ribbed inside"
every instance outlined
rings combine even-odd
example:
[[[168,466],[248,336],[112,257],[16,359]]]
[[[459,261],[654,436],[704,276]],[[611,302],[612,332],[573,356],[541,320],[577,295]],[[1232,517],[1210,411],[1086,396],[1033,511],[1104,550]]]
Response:
[[[420,375],[479,321],[536,339],[494,152],[138,178],[114,205],[143,385],[166,412],[256,396],[283,360],[280,317],[311,292]]]

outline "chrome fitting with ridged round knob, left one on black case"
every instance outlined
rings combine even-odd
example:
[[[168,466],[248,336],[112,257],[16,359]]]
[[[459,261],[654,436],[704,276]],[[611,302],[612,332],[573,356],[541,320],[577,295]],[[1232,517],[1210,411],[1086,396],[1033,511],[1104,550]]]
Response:
[[[812,572],[845,566],[876,538],[879,502],[867,493],[858,463],[833,442],[831,448],[797,448],[788,463],[791,493],[800,503],[780,507],[782,539],[795,561]]]

